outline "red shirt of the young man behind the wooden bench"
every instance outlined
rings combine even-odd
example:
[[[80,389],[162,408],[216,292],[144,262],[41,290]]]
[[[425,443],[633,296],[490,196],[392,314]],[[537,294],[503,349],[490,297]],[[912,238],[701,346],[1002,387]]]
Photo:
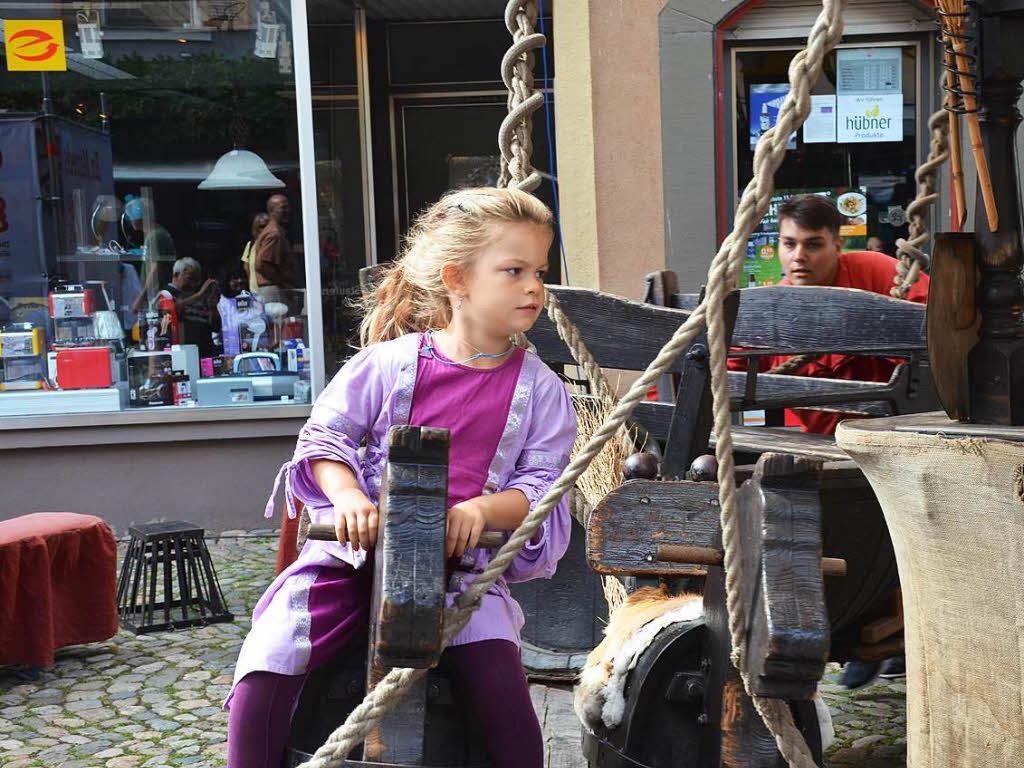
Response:
[[[896,276],[896,259],[874,251],[851,251],[842,253],[839,257],[839,271],[836,274],[836,288],[859,288],[862,291],[872,291],[889,296]],[[779,282],[780,286],[792,286],[788,279]],[[908,301],[924,304],[928,301],[928,275],[922,274],[907,294]],[[762,357],[759,371],[769,371],[775,366],[790,359],[787,355]],[[797,369],[796,376],[810,376],[816,379],[847,379],[849,381],[889,381],[899,359],[890,357],[858,357],[851,354],[824,354],[818,359]],[[740,358],[729,360],[729,368],[734,371],[746,369],[746,361]],[[858,418],[852,414],[838,414],[829,411],[787,411],[800,423],[802,431],[833,434],[837,425],[844,419]],[[787,419],[788,422],[788,419]]]

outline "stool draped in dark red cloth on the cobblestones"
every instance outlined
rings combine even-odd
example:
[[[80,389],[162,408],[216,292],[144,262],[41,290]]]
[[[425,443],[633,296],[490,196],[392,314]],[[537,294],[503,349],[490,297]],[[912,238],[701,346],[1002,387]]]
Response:
[[[117,634],[118,548],[98,517],[0,520],[0,665],[51,667],[53,651]]]

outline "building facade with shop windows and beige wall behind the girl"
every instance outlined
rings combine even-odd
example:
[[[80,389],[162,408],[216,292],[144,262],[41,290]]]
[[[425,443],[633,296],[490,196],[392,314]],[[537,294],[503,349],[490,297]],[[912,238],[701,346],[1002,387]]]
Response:
[[[547,6],[534,162],[552,206],[558,181],[552,263],[563,282],[634,299],[666,267],[696,290],[819,6]],[[0,518],[258,527],[311,398],[352,352],[358,269],[393,258],[445,189],[497,178],[504,3],[4,12],[8,36],[59,20],[67,54],[63,70],[11,71],[48,48],[8,44],[0,81],[0,198],[17,212],[0,234]],[[932,18],[927,3],[851,0],[812,89],[817,120],[779,171],[780,195],[844,201],[851,245],[877,237],[892,253],[906,232],[940,98]],[[865,120],[888,122],[851,134]],[[268,208],[272,239],[253,231]],[[779,276],[772,233],[768,221],[752,239],[746,285]],[[256,251],[290,271],[250,285]]]

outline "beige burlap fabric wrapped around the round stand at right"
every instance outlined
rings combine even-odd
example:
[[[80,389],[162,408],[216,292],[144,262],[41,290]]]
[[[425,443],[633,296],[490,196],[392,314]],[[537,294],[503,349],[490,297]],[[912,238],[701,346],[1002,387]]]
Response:
[[[1024,766],[1024,442],[848,421],[885,512],[906,622],[907,766]],[[900,428],[901,431],[896,431]],[[1011,437],[1024,428],[1007,428]]]

